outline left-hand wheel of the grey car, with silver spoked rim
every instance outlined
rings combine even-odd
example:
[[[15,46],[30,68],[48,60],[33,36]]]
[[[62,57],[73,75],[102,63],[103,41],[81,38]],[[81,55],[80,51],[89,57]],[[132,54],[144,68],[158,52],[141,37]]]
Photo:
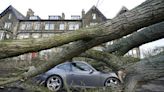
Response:
[[[63,86],[63,81],[59,76],[50,76],[46,81],[46,86],[51,91],[59,91]]]

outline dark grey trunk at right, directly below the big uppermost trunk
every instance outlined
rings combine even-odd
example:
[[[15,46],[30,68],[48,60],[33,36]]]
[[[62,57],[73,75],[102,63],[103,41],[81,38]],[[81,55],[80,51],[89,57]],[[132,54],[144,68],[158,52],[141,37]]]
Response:
[[[124,55],[132,48],[161,38],[164,38],[164,22],[143,28],[139,32],[135,32],[126,38],[121,38],[116,43],[108,46],[107,52]]]

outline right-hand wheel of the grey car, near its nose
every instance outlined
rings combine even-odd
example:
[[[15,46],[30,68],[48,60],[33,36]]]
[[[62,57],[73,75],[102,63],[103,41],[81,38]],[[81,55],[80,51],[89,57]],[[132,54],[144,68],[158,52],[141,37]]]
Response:
[[[112,86],[112,85],[118,85],[118,84],[120,84],[120,81],[119,81],[119,79],[117,79],[117,78],[109,77],[109,78],[105,81],[104,84],[105,84],[106,87],[109,87],[109,86]]]

